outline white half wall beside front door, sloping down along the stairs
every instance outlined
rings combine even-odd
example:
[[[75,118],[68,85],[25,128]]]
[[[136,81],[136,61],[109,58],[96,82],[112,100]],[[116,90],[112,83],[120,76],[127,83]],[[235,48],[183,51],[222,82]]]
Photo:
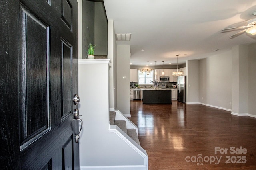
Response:
[[[79,112],[84,122],[79,139],[80,167],[104,169],[127,166],[144,167],[146,170],[146,151],[132,139],[125,138],[124,135],[128,135],[116,125],[112,125],[116,129],[110,129],[109,62],[110,59],[78,60]],[[94,82],[94,86],[88,82]]]

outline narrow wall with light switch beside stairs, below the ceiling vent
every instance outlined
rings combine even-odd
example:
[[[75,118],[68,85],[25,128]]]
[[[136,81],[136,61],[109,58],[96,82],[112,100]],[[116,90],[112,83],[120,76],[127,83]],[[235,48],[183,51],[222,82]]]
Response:
[[[130,115],[130,45],[117,45],[116,54],[117,109]]]

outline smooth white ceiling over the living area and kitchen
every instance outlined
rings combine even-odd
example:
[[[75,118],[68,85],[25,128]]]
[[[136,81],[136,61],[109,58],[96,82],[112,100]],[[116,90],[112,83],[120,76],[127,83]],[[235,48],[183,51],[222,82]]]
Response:
[[[176,65],[177,54],[182,64],[256,42],[246,33],[228,38],[239,30],[220,33],[256,18],[256,0],[104,0],[104,5],[115,32],[132,33],[131,41],[117,41],[130,45],[132,65]]]

